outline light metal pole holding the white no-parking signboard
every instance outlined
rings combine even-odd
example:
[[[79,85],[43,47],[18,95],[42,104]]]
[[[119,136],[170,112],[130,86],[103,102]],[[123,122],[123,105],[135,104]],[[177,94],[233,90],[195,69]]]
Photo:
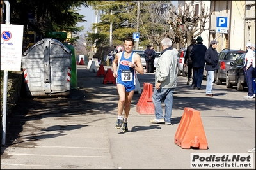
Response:
[[[10,24],[10,3],[9,1],[4,1],[6,6],[6,20],[5,24]],[[2,117],[2,141],[1,144],[5,145],[6,137],[6,103],[7,103],[7,86],[8,86],[8,70],[4,70],[4,87],[3,87],[3,117]]]

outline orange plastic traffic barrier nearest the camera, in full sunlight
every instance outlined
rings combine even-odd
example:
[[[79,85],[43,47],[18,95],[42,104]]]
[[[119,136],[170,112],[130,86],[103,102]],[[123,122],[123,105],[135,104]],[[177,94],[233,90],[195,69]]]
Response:
[[[199,148],[200,150],[207,150],[208,143],[200,117],[200,111],[193,108],[184,108],[174,142],[182,149],[193,147]]]

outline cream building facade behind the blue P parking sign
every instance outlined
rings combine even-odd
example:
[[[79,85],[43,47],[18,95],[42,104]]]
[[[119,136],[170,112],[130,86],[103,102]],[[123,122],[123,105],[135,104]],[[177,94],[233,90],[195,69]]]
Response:
[[[201,1],[179,1],[183,5],[200,4]],[[255,1],[204,1],[205,9],[213,10],[209,25],[201,33],[205,46],[213,39],[219,41],[217,51],[225,48],[245,50],[245,44],[255,44]],[[216,31],[217,17],[227,18],[227,32]],[[207,29],[209,26],[209,29]]]

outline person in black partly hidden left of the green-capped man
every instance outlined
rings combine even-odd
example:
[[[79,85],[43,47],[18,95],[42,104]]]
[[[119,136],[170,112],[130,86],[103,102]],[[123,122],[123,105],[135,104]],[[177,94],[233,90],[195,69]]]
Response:
[[[190,54],[191,54],[191,50],[192,50],[193,46],[195,46],[195,45],[196,45],[196,39],[192,39],[191,44],[188,46],[187,52],[186,52],[186,55],[185,55],[184,66],[188,67],[187,85],[189,85],[189,83],[191,81],[191,73],[192,73],[193,63],[192,63]]]

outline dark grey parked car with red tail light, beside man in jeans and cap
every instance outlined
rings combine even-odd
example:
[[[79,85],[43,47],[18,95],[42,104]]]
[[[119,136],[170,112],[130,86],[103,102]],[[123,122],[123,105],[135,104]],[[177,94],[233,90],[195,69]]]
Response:
[[[214,73],[214,80],[216,80],[217,85],[221,85],[223,82],[226,82],[226,73],[230,68],[230,62],[234,62],[242,53],[246,52],[243,50],[224,49],[218,54],[219,69]]]

